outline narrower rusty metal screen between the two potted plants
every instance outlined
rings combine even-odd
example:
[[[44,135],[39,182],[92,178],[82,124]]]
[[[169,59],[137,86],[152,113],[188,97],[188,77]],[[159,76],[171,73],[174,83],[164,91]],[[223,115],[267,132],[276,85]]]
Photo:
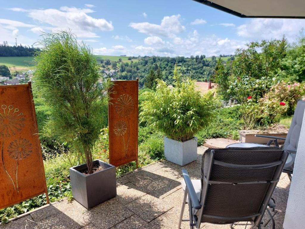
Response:
[[[108,105],[109,162],[138,166],[138,79],[114,81]]]

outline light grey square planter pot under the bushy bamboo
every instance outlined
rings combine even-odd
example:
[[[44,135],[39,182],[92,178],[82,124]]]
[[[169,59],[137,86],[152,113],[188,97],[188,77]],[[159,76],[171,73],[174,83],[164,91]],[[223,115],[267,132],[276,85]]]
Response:
[[[164,156],[167,161],[177,165],[186,165],[197,160],[197,138],[180,142],[164,137]]]

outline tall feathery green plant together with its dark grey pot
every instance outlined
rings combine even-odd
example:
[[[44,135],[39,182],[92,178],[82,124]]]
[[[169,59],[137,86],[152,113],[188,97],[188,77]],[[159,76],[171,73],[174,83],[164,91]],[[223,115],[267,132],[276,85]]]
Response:
[[[75,200],[91,208],[116,196],[113,165],[92,160],[105,117],[102,105],[109,102],[111,82],[99,82],[99,67],[91,49],[79,44],[75,35],[60,31],[44,34],[35,55],[34,85],[50,108],[44,133],[68,142],[84,164],[70,168]]]

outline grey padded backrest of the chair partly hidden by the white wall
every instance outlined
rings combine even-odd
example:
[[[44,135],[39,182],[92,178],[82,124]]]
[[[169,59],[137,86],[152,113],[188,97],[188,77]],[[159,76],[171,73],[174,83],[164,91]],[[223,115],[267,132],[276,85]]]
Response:
[[[288,134],[286,136],[286,140],[283,148],[284,150],[296,151],[300,138],[304,110],[305,110],[305,101],[298,100],[296,104],[296,110],[294,111],[291,125]]]

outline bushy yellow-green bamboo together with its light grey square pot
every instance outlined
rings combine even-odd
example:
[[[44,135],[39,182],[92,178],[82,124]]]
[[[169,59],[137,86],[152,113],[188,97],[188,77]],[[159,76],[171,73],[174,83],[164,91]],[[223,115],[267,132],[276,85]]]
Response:
[[[213,119],[217,103],[212,93],[201,95],[195,80],[182,81],[177,66],[174,68],[173,88],[156,79],[155,91],[145,92],[140,107],[140,121],[165,134],[165,158],[178,165],[197,159],[197,138],[194,136]]]

